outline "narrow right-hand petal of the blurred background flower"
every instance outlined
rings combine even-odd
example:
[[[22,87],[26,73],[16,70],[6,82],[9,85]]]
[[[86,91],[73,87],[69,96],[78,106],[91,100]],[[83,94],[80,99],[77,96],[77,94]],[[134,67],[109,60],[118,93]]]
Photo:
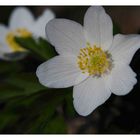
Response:
[[[45,27],[46,24],[55,17],[55,14],[53,11],[47,9],[44,11],[44,13],[39,16],[37,21],[35,22],[35,25],[33,27],[33,33],[39,37],[46,38],[45,34]]]

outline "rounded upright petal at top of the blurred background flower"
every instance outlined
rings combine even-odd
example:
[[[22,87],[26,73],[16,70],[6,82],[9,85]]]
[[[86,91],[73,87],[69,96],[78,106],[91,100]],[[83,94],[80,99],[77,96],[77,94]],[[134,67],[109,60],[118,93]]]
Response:
[[[27,8],[18,7],[12,12],[9,22],[9,26],[13,30],[17,28],[29,29],[34,23],[34,18]]]

